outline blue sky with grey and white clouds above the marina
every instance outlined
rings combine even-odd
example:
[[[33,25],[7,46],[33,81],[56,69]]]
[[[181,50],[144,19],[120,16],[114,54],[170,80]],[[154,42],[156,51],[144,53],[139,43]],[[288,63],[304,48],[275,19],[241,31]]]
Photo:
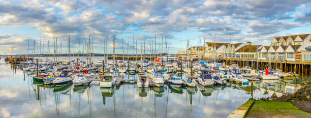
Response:
[[[34,41],[39,51],[40,37],[45,53],[53,37],[62,53],[66,52],[70,35],[71,47],[89,35],[94,40],[94,52],[103,53],[103,42],[111,44],[116,35],[116,51],[133,50],[133,34],[140,49],[145,41],[149,52],[149,38],[157,48],[160,38],[167,37],[171,53],[201,42],[247,42],[269,45],[273,37],[310,33],[311,2],[309,0],[206,0],[206,1],[3,1],[0,0],[0,54],[32,53]],[[111,45],[110,45],[111,47]],[[81,47],[82,48],[82,47]],[[109,50],[112,53],[112,50]],[[133,53],[133,51],[129,51]],[[43,50],[42,50],[43,53]]]

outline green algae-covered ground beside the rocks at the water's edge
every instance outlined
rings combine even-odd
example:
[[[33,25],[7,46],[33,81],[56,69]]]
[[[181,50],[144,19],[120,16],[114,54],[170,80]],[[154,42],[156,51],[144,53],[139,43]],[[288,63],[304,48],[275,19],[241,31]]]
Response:
[[[299,110],[289,102],[255,101],[247,116],[289,116],[311,117],[311,114]]]

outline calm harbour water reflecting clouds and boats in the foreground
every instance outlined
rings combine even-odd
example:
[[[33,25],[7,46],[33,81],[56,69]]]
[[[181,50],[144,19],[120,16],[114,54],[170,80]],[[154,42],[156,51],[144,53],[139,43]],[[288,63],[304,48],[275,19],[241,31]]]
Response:
[[[227,117],[252,98],[251,85],[234,83],[177,90],[168,85],[141,89],[135,84],[101,89],[43,85],[30,76],[17,66],[0,65],[0,117]],[[253,97],[294,93],[302,81],[255,82]]]

